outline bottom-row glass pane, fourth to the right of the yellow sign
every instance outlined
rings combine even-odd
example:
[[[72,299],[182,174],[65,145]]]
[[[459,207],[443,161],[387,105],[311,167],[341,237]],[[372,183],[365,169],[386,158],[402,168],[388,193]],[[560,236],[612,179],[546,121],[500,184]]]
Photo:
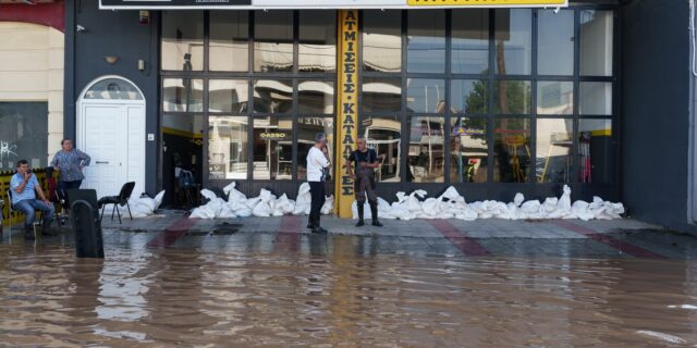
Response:
[[[493,181],[525,183],[530,174],[530,120],[496,119]]]

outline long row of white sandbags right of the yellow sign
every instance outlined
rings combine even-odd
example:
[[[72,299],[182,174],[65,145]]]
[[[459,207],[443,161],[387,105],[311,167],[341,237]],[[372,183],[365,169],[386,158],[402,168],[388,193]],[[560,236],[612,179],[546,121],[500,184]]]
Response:
[[[465,198],[454,187],[449,187],[445,192],[436,198],[426,198],[423,189],[415,190],[411,195],[398,192],[398,201],[392,204],[378,198],[378,214],[381,219],[460,219],[474,221],[477,219],[580,219],[612,220],[621,219],[624,213],[622,203],[607,202],[599,197],[594,197],[592,202],[577,200],[571,202],[571,188],[564,185],[562,197],[551,197],[540,202],[539,200],[525,201],[523,194],[516,194],[513,202],[504,203],[493,200],[476,201],[467,203]],[[357,219],[356,202],[352,206],[353,219]],[[364,216],[370,219],[368,204],[364,204]]]

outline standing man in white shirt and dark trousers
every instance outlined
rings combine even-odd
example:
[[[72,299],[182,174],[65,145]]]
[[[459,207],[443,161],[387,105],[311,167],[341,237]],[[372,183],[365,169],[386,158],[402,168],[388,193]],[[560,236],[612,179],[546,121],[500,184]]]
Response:
[[[309,210],[309,222],[307,227],[313,233],[326,234],[327,229],[319,226],[319,216],[325,204],[325,181],[331,163],[327,150],[327,136],[318,133],[315,136],[315,146],[307,152],[307,183],[309,192],[313,196]]]

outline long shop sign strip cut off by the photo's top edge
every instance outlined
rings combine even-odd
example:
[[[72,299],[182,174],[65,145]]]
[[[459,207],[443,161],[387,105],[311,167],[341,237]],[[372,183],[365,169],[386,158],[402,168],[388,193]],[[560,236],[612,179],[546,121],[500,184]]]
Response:
[[[99,0],[102,10],[548,8],[568,0]]]

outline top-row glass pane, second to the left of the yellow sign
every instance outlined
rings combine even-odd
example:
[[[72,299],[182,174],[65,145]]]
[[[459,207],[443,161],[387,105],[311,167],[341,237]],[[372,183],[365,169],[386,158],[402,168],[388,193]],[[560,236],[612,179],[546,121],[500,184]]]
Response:
[[[293,11],[254,13],[254,71],[293,71]]]

